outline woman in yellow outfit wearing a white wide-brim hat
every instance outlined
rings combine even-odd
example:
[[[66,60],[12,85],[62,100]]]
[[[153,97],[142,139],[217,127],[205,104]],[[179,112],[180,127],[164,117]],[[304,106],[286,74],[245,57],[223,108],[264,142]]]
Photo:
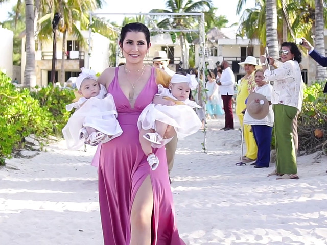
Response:
[[[260,68],[260,66],[256,63],[256,58],[253,56],[246,57],[245,61],[239,63],[239,65],[243,66],[246,72],[245,76],[241,78],[236,97],[236,114],[239,117],[240,124],[243,125],[243,113],[246,108],[245,100],[256,86],[254,71],[255,68]],[[250,130],[250,125],[244,125],[243,134],[246,144],[246,154],[241,159],[244,163],[254,162],[258,154],[258,147],[256,146],[253,133]]]

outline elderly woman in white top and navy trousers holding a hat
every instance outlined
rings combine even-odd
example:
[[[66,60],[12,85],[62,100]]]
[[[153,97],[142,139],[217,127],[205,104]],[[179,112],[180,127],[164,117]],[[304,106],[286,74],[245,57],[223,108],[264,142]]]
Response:
[[[255,168],[269,167],[270,143],[272,127],[274,125],[274,112],[271,105],[272,86],[263,81],[262,69],[255,71],[254,79],[256,87],[246,101],[244,124],[251,125],[256,145],[258,145],[258,157]]]

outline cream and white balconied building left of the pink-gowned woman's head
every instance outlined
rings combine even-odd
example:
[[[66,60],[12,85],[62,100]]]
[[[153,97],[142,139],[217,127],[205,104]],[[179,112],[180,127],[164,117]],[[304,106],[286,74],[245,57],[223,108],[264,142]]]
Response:
[[[88,43],[89,32],[81,31],[86,43]],[[72,35],[66,35],[66,42],[62,44],[62,33],[57,37],[56,47],[56,82],[60,79],[62,50],[65,50],[64,72],[65,81],[70,77],[77,77],[81,72],[81,67],[90,67],[96,72],[102,72],[109,66],[109,39],[99,33],[91,33],[91,51],[88,54],[88,45],[83,47]],[[26,65],[25,52],[25,35],[21,42],[21,76],[24,78],[24,70]],[[52,48],[53,40],[42,41],[37,45],[35,52],[36,60],[36,84],[39,86],[46,86],[51,79],[52,69]]]

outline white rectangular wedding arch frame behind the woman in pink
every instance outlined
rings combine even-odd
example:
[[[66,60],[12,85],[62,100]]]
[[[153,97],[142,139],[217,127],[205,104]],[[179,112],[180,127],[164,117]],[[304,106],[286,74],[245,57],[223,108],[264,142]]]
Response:
[[[199,50],[199,57],[200,61],[199,62],[199,68],[202,70],[202,80],[200,79],[200,76],[198,76],[198,81],[199,81],[199,86],[201,87],[201,91],[204,91],[205,89],[205,19],[204,19],[204,13],[96,13],[96,12],[90,12],[89,13],[89,36],[88,36],[88,68],[90,68],[90,54],[91,54],[91,34],[92,34],[92,17],[93,16],[104,16],[104,15],[122,15],[122,16],[128,16],[128,15],[144,15],[144,16],[197,16],[200,21],[199,21],[199,28],[198,29],[172,29],[172,30],[166,30],[166,29],[160,29],[156,26],[152,18],[149,17],[151,23],[155,27],[154,29],[150,29],[150,33],[152,31],[156,32],[197,32],[199,33],[199,45],[200,45],[200,50]],[[120,30],[112,27],[113,31],[120,33]],[[183,55],[183,54],[182,54]],[[201,103],[202,109],[204,111],[204,122],[205,122],[205,104],[203,102],[203,92],[197,93],[197,101]],[[202,96],[202,97],[200,97]],[[204,105],[203,105],[204,104]],[[206,128],[203,131],[203,143],[202,143],[202,152],[207,153],[206,145]]]

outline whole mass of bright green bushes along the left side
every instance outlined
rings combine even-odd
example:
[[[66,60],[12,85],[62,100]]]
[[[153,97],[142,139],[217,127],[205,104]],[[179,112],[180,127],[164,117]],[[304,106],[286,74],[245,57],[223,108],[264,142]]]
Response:
[[[24,137],[43,137],[61,132],[71,112],[65,105],[74,92],[49,86],[39,91],[17,89],[11,79],[0,73],[0,165],[15,149],[24,145]]]

